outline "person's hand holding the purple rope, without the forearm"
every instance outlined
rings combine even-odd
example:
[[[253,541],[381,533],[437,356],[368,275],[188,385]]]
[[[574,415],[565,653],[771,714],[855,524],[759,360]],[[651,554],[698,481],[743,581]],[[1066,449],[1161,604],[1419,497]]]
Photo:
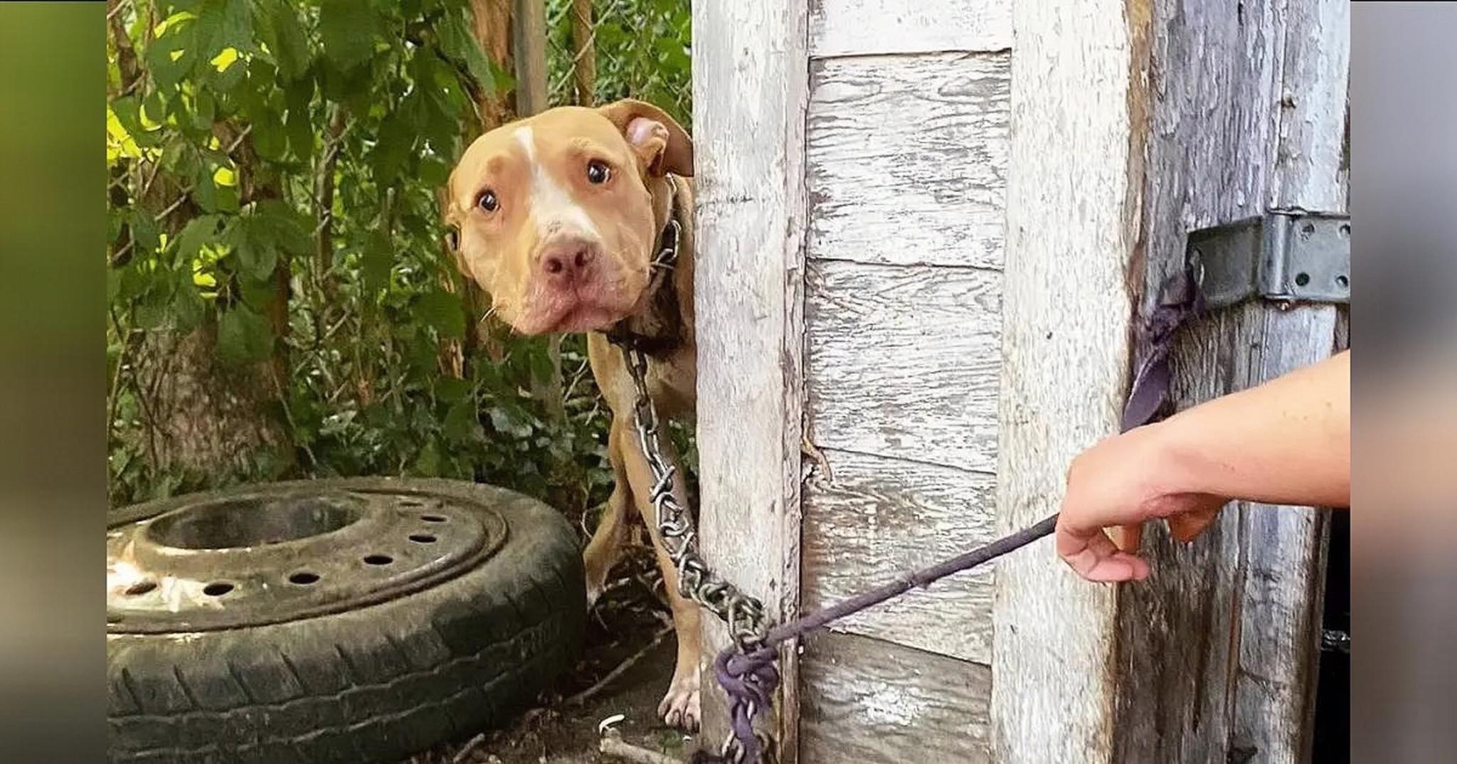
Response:
[[[1161,424],[1101,440],[1068,468],[1068,488],[1058,516],[1058,554],[1093,582],[1142,580],[1148,563],[1134,554],[1138,529],[1166,519],[1179,541],[1190,541],[1214,522],[1228,499],[1189,491],[1187,469]],[[1104,528],[1123,526],[1115,544]]]

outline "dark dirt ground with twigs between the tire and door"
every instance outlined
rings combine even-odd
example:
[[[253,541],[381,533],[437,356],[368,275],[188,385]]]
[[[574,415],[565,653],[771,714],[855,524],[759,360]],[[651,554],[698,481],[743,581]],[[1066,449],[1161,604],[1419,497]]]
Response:
[[[597,752],[597,726],[618,714],[622,719],[610,726],[624,742],[686,760],[696,741],[664,726],[656,713],[675,655],[661,577],[648,547],[635,545],[625,557],[589,617],[581,660],[559,687],[506,729],[482,730],[401,764],[616,764],[621,760]]]

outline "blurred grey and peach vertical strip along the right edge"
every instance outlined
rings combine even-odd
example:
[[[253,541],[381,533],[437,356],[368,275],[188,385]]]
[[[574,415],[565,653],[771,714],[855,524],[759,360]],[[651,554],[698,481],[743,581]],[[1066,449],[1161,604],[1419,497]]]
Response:
[[[1351,760],[1451,761],[1457,3],[1354,3],[1351,38]]]

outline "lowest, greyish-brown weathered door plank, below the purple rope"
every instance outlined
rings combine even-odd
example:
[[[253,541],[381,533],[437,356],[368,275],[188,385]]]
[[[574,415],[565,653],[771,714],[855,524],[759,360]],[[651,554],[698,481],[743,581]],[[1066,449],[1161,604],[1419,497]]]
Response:
[[[804,653],[806,764],[994,761],[986,666],[833,633]]]

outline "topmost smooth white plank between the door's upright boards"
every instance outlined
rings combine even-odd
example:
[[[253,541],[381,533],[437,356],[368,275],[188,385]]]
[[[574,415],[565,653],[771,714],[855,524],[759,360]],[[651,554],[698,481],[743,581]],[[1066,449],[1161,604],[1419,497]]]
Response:
[[[814,0],[816,57],[1011,48],[1011,0]]]

